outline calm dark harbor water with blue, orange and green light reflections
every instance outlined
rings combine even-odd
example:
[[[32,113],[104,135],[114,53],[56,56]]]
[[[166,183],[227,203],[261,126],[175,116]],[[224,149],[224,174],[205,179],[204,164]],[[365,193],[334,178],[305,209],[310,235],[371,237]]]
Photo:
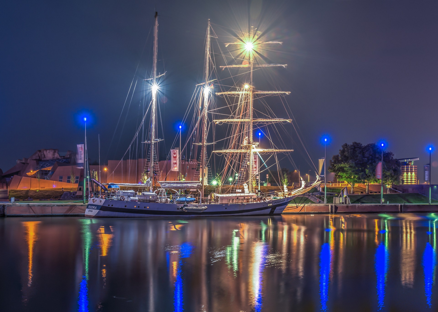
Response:
[[[436,311],[437,221],[1,218],[1,311]]]

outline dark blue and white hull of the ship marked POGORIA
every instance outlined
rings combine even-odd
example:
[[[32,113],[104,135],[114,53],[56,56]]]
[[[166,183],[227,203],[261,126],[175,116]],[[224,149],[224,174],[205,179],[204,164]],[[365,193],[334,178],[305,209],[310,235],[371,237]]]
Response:
[[[280,215],[295,196],[244,204],[186,205],[172,203],[120,201],[92,198],[85,209],[86,217],[196,217],[236,215]],[[204,208],[196,211],[197,207]],[[206,207],[206,208],[205,208]],[[186,208],[186,209],[184,209]]]

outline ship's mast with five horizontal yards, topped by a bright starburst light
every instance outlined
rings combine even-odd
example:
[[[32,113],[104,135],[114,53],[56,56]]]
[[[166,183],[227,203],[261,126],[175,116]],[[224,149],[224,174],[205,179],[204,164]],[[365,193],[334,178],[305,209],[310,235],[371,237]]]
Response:
[[[255,180],[255,175],[257,172],[255,172],[254,168],[254,153],[282,153],[282,152],[293,152],[293,149],[261,149],[258,146],[258,142],[254,142],[253,138],[253,130],[254,130],[254,123],[277,123],[277,122],[291,122],[291,119],[282,119],[282,118],[254,118],[253,114],[253,107],[254,107],[254,94],[265,94],[265,95],[272,95],[272,94],[279,94],[279,95],[286,95],[290,94],[288,91],[259,91],[254,90],[254,84],[253,84],[253,70],[254,67],[271,67],[271,66],[283,66],[286,67],[287,64],[255,64],[254,63],[254,49],[257,46],[260,45],[268,45],[268,44],[283,44],[283,42],[278,41],[268,41],[268,42],[261,42],[258,40],[256,35],[254,35],[254,28],[251,27],[251,33],[248,35],[247,38],[240,39],[237,42],[228,42],[225,44],[225,46],[228,45],[240,45],[244,47],[244,50],[246,50],[248,54],[248,64],[241,64],[241,65],[226,65],[226,66],[219,66],[220,68],[248,68],[250,69],[250,81],[249,84],[245,84],[244,88],[241,90],[236,91],[227,91],[227,92],[217,92],[217,95],[226,95],[226,96],[240,96],[243,98],[247,98],[247,108],[249,112],[248,118],[229,118],[229,119],[217,119],[213,120],[213,122],[217,123],[238,123],[238,122],[244,122],[248,123],[248,135],[247,139],[244,139],[243,144],[241,145],[241,149],[223,149],[223,150],[215,150],[213,153],[248,153],[249,155],[249,161],[248,161],[248,191],[251,193],[253,191],[253,181]]]

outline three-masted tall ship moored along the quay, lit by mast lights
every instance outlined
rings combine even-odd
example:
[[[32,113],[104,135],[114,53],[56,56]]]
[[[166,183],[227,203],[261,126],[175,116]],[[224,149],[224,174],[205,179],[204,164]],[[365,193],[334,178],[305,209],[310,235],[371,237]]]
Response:
[[[145,79],[152,100],[150,114],[144,114],[141,123],[144,124],[147,115],[150,117],[148,137],[144,138],[148,152],[142,181],[139,184],[107,185],[94,181],[99,186],[99,192],[90,194],[85,216],[279,215],[298,195],[319,186],[321,179],[316,175],[316,180],[309,185],[300,177],[298,187],[291,190],[286,182],[279,191],[260,191],[261,175],[268,173],[272,166],[279,167],[277,155],[290,157],[289,154],[293,152],[293,149],[276,148],[278,142],[285,143],[276,127],[290,125],[292,119],[276,118],[274,110],[264,102],[265,97],[284,97],[290,92],[258,90],[253,82],[258,69],[286,67],[286,64],[262,63],[263,58],[258,57],[260,50],[283,42],[264,41],[257,30],[251,28],[233,41],[217,42],[220,53],[213,53],[211,39],[217,40],[218,36],[210,20],[205,37],[203,81],[196,85],[189,104],[192,109],[188,109],[184,116],[184,119],[192,116],[189,135],[184,146],[180,143],[180,148],[172,149],[168,156],[173,170],[178,170],[178,177],[167,179],[159,168],[157,157],[157,146],[161,141],[157,132],[157,97],[159,78],[163,75],[157,75],[157,35],[158,14],[155,12],[152,75]],[[222,52],[221,45],[222,48],[232,48],[228,50],[228,55]],[[223,65],[215,66],[215,54],[223,56]],[[228,64],[227,56],[233,64]],[[228,76],[221,78],[224,73]],[[268,109],[261,111],[260,107],[254,107],[254,103],[265,103]],[[268,137],[268,144],[271,145],[268,148],[261,147],[261,126],[273,127],[271,131],[263,132],[267,137],[269,133],[275,133],[277,137],[276,140]],[[136,135],[139,133],[137,131]],[[254,140],[257,135],[259,142]],[[179,139],[181,142],[181,132]],[[190,181],[185,180],[184,174],[181,175],[181,157],[184,153],[190,155],[189,159],[199,159],[194,178]],[[219,159],[218,164],[216,159]],[[269,166],[268,159],[271,159],[271,163],[273,160],[274,164]]]

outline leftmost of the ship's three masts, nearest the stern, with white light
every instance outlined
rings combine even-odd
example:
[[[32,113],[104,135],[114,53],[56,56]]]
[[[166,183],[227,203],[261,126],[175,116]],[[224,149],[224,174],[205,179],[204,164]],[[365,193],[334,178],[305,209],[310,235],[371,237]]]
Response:
[[[158,86],[156,83],[157,78],[157,49],[158,49],[158,12],[155,12],[155,26],[154,26],[154,55],[152,61],[152,107],[151,107],[151,148],[150,148],[150,160],[149,160],[149,174],[151,178],[150,191],[153,191],[155,184],[155,166],[154,166],[154,153],[155,153],[155,120],[157,110],[157,91]]]

